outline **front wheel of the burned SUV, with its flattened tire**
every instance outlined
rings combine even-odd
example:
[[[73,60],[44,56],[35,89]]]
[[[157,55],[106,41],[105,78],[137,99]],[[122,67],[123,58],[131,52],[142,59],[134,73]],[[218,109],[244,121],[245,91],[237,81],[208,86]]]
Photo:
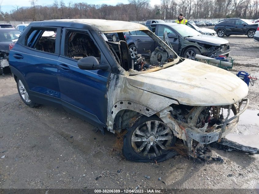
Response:
[[[176,137],[167,127],[156,115],[138,117],[124,135],[122,151],[125,158],[135,162],[162,162],[176,156],[177,152],[170,149],[174,146]],[[164,140],[159,140],[163,138]]]

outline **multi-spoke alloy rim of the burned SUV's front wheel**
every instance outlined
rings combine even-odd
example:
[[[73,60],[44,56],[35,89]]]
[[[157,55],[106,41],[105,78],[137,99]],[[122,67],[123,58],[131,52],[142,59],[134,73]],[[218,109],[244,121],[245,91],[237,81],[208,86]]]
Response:
[[[144,158],[158,157],[171,147],[173,132],[163,122],[151,120],[140,124],[131,136],[131,146]]]

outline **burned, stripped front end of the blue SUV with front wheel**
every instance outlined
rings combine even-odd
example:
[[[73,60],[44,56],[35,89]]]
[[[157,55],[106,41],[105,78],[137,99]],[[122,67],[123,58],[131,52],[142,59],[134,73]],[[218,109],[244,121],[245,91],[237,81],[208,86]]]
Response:
[[[177,138],[190,154],[194,154],[194,144],[220,141],[248,107],[247,85],[226,70],[179,57],[154,33],[139,30],[158,44],[150,59],[138,55],[131,65],[122,62],[123,49],[117,53],[114,46],[111,49],[119,73],[112,73],[109,82],[107,129],[127,131],[125,157],[160,162],[172,156]],[[114,44],[105,43],[108,48]]]

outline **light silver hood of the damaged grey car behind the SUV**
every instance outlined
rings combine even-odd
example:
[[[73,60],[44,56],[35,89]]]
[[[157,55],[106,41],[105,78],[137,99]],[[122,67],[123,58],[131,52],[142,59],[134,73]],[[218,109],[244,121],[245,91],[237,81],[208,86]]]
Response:
[[[199,43],[210,44],[213,46],[220,46],[221,44],[228,44],[228,41],[223,38],[209,36],[209,35],[186,37],[186,39],[190,40],[190,41],[199,42]]]

